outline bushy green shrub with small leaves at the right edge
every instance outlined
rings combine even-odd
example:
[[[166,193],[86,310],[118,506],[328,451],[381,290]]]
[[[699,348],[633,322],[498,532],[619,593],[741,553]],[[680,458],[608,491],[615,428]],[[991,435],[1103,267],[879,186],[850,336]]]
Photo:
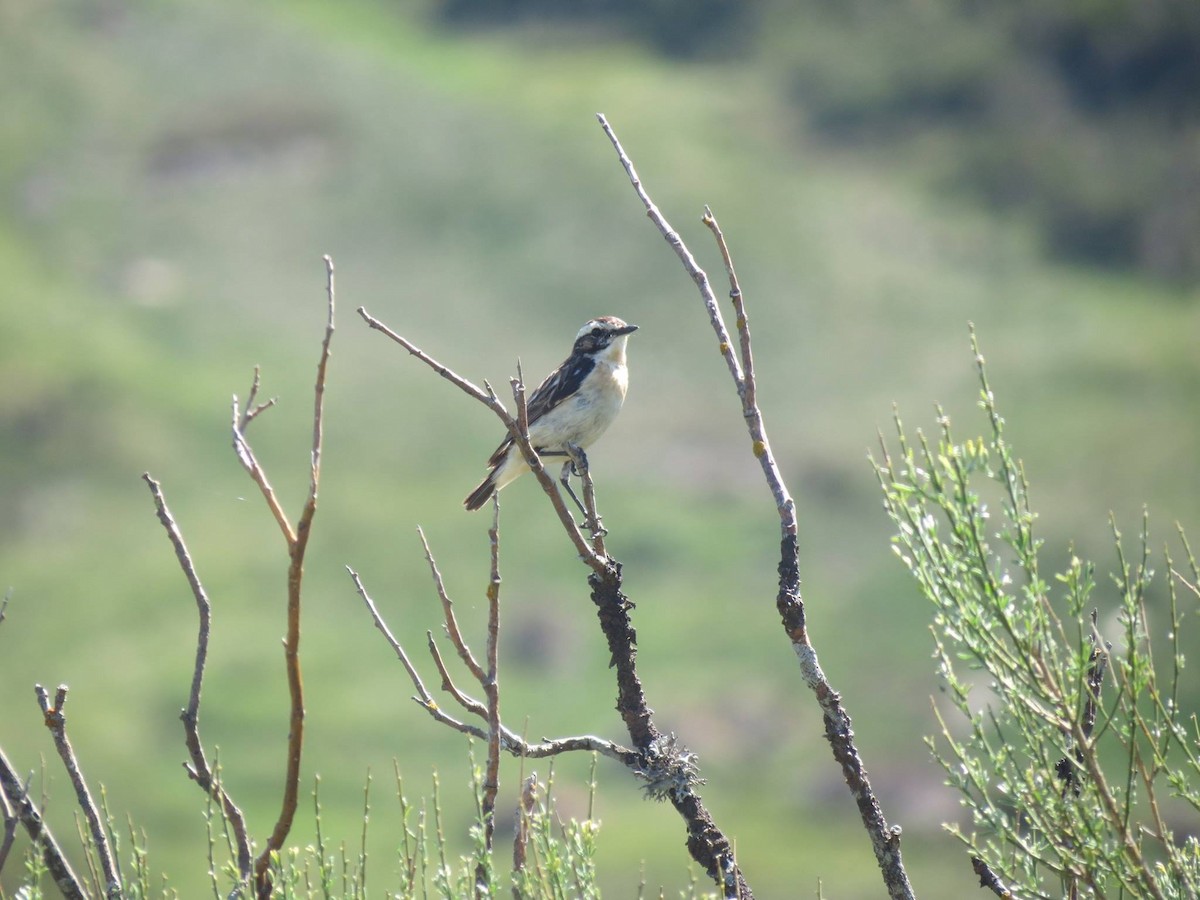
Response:
[[[1072,553],[1045,578],[1025,468],[973,330],[971,342],[985,434],[958,440],[938,407],[936,438],[910,438],[896,414],[896,449],[881,436],[874,461],[894,550],[935,607],[934,655],[958,714],[935,704],[929,739],[970,811],[970,826],[947,828],[1000,896],[1195,898],[1200,845],[1169,824],[1169,810],[1200,810],[1196,719],[1181,696],[1195,557],[1181,529],[1190,577],[1166,551],[1162,596],[1147,520],[1134,560],[1114,523],[1111,618],[1091,562]],[[1163,614],[1165,650],[1151,629]],[[1120,626],[1116,649],[1102,622]]]

